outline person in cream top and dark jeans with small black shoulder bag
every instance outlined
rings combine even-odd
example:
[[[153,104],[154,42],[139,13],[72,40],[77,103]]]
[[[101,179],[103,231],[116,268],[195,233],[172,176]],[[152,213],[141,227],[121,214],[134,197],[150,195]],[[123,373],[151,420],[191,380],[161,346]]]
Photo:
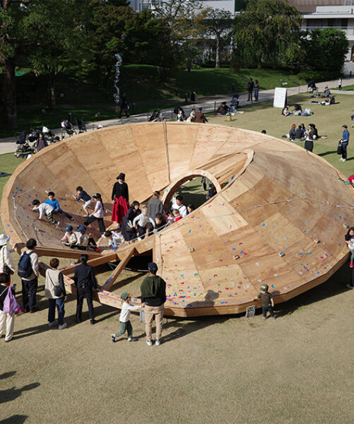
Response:
[[[49,302],[48,325],[57,325],[59,330],[63,330],[68,325],[64,322],[64,302],[66,300],[64,276],[58,269],[59,259],[52,258],[49,262],[49,266],[50,268],[45,271],[45,297]],[[55,307],[57,307],[58,310],[58,319],[55,319]]]

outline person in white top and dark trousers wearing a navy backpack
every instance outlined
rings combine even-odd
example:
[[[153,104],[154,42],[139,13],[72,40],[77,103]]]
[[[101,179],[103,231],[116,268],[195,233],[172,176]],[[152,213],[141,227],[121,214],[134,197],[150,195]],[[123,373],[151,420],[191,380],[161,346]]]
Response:
[[[30,312],[31,314],[39,310],[36,295],[40,271],[38,269],[38,255],[35,253],[36,246],[37,242],[35,239],[30,238],[27,240],[27,250],[20,256],[17,271],[22,282],[23,312]],[[29,301],[28,295],[30,297]]]

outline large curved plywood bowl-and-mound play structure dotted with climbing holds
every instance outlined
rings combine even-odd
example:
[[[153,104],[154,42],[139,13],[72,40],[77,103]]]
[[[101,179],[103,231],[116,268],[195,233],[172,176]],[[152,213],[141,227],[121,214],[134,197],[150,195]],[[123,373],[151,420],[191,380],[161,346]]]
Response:
[[[61,248],[67,222],[54,230],[34,220],[30,201],[46,199],[50,189],[81,223],[81,205],[71,196],[77,185],[102,194],[109,223],[119,172],[126,174],[130,201],[146,201],[154,190],[169,201],[174,188],[194,175],[216,182],[213,199],[134,242],[130,253],[153,249],[170,314],[242,312],[254,304],[263,283],[282,302],[326,281],[346,260],[344,225],[351,225],[354,202],[343,175],[287,141],[206,124],[116,126],[46,148],[6,184],[1,205],[6,231],[13,241],[35,237],[40,246]],[[119,259],[131,248],[120,247]]]

